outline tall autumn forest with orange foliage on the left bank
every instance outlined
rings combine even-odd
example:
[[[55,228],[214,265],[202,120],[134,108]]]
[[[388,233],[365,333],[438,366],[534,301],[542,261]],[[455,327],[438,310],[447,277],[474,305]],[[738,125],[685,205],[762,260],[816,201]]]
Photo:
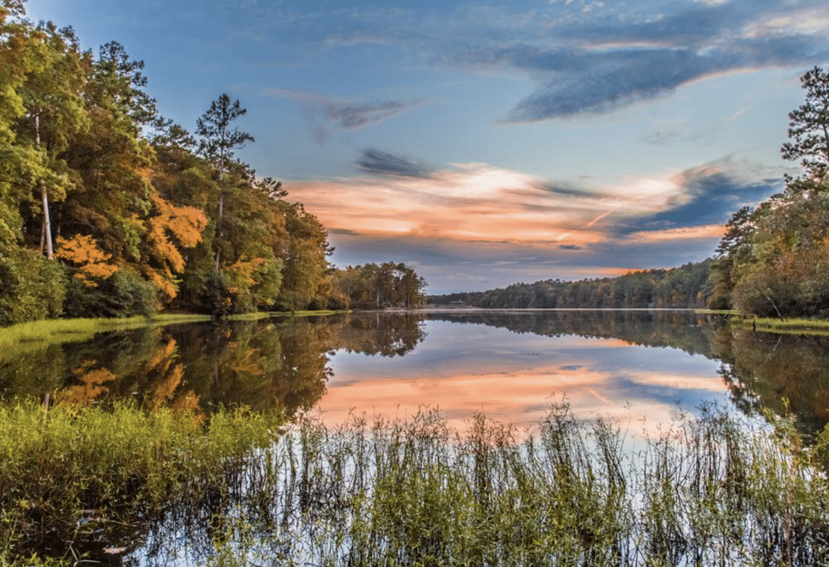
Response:
[[[0,325],[419,304],[405,264],[329,264],[319,220],[235,156],[240,101],[188,133],[143,66],[0,2]]]

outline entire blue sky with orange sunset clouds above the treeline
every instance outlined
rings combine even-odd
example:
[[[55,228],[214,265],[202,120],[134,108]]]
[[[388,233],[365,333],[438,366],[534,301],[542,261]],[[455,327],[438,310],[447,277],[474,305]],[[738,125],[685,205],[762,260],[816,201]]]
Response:
[[[826,0],[27,0],[119,41],[189,130],[222,93],[237,156],[318,216],[337,266],[427,293],[669,268],[780,191]]]

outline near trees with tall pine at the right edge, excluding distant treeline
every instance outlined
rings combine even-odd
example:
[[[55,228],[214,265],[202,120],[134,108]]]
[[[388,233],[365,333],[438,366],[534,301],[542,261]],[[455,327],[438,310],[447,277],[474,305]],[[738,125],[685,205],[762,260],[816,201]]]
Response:
[[[802,76],[804,103],[789,114],[783,157],[804,175],[731,217],[713,266],[710,307],[760,317],[829,317],[829,75]]]

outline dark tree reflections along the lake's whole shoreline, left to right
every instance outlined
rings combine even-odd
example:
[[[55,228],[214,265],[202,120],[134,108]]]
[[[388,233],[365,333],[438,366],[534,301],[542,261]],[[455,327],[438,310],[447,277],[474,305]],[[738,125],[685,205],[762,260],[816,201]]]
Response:
[[[431,321],[681,349],[721,361],[730,396],[747,413],[783,413],[785,399],[803,431],[829,421],[829,337],[752,332],[691,311],[354,313],[148,327],[80,344],[6,348],[0,396],[75,405],[134,399],[148,409],[205,412],[246,405],[293,415],[325,394],[332,352],[405,356]]]

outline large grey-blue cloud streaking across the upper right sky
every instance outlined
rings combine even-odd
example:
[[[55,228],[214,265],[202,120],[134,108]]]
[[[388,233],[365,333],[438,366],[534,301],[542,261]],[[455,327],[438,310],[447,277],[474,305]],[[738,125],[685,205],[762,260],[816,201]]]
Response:
[[[602,114],[715,75],[829,59],[824,0],[515,6],[461,4],[419,17],[401,9],[356,10],[323,42],[396,42],[417,46],[432,64],[525,73],[537,88],[506,113],[507,123]]]

